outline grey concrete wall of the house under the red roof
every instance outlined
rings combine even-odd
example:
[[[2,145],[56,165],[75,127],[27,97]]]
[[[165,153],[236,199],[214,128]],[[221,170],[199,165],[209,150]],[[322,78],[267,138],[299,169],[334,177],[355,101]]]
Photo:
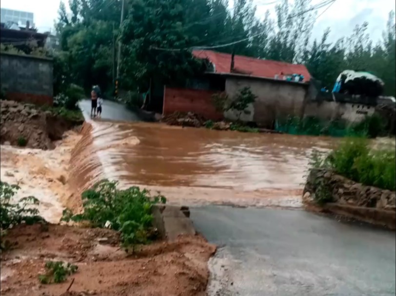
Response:
[[[302,116],[304,112],[308,85],[274,79],[227,77],[225,91],[233,97],[245,86],[251,88],[257,99],[243,113],[241,120],[255,121],[260,126],[270,127],[276,118]],[[235,119],[233,112],[227,112],[224,116]]]

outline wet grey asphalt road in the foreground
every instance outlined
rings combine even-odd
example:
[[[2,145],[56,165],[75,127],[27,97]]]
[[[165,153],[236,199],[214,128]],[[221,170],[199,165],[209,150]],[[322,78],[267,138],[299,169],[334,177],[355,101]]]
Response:
[[[209,296],[394,296],[394,232],[303,210],[193,208],[220,246]]]

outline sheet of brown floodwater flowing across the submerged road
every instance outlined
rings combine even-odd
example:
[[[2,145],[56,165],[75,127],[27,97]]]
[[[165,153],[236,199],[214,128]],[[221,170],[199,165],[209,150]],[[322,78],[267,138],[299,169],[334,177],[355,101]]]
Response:
[[[102,178],[170,203],[299,206],[310,154],[334,138],[91,121],[72,153],[79,192]]]

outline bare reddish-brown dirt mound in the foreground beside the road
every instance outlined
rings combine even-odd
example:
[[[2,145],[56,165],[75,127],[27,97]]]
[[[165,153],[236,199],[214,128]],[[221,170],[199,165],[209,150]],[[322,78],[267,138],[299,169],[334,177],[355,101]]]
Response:
[[[16,246],[1,255],[3,296],[204,296],[207,260],[216,249],[202,237],[184,236],[127,255],[114,231],[60,225],[20,226],[8,237]],[[38,275],[47,260],[79,269],[64,283],[42,285]]]

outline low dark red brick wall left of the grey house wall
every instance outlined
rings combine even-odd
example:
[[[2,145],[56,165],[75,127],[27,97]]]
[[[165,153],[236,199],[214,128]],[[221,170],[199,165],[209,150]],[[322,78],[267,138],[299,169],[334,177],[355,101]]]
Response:
[[[212,95],[214,93],[207,90],[165,87],[162,114],[194,112],[207,119],[222,119],[223,115],[217,112],[212,104]]]

